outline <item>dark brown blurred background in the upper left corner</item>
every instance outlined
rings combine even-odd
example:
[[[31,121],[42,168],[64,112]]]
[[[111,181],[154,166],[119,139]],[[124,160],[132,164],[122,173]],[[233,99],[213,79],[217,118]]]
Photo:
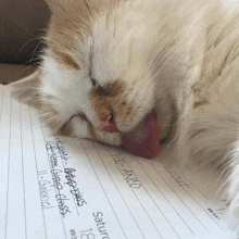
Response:
[[[0,0],[0,83],[34,71],[49,18],[43,0]]]

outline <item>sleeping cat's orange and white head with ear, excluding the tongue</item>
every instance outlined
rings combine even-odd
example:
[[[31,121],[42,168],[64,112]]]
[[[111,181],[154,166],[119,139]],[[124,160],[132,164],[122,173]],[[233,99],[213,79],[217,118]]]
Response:
[[[17,95],[40,105],[54,133],[121,144],[122,135],[137,131],[154,111],[159,137],[167,138],[179,92],[175,78],[184,76],[185,67],[160,77],[158,68],[187,59],[180,51],[172,53],[179,46],[177,17],[168,16],[171,25],[167,21],[172,5],[165,0],[161,8],[154,0],[48,1],[52,17],[42,62],[15,85]]]

